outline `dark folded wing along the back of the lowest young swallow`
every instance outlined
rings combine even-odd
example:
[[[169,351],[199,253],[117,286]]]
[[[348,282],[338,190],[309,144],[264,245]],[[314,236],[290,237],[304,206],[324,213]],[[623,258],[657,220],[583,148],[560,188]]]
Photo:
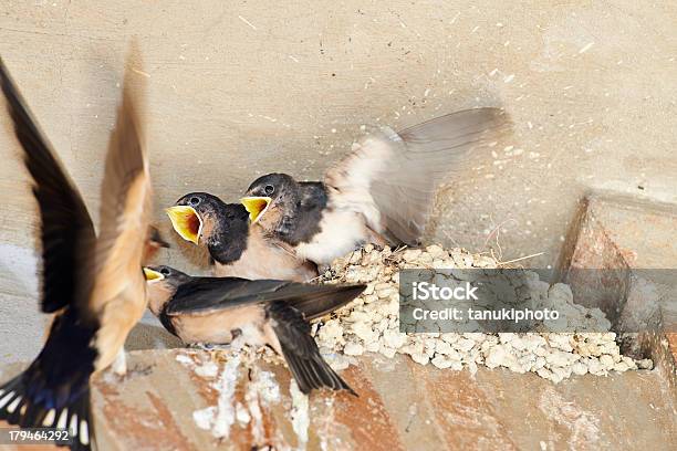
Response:
[[[238,277],[195,277],[183,284],[166,306],[167,315],[208,315],[252,303],[283,301],[306,319],[332,312],[364,291],[364,285],[311,285],[296,282]]]

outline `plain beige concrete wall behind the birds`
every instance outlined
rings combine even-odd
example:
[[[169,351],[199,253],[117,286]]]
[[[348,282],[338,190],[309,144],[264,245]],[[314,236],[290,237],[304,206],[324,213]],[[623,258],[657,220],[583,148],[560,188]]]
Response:
[[[543,252],[524,264],[545,268],[586,191],[677,202],[675,3],[191,3],[0,6],[0,54],[95,219],[133,36],[163,221],[162,207],[188,190],[236,198],[271,170],[317,178],[363,124],[399,128],[496,104],[514,135],[448,181],[433,240],[504,261]],[[14,359],[37,352],[42,331],[34,204],[0,122],[0,356]],[[180,255],[166,260],[186,266]]]

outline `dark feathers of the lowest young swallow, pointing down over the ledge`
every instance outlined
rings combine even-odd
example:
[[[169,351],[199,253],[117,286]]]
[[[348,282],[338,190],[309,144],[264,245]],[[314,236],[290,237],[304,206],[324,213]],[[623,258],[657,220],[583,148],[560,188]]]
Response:
[[[273,319],[272,327],[282,354],[302,392],[309,394],[312,389],[327,387],[332,390],[348,390],[357,396],[324,361],[317,344],[310,335],[311,326],[300,311],[284,302],[273,302],[265,306],[265,313]]]

